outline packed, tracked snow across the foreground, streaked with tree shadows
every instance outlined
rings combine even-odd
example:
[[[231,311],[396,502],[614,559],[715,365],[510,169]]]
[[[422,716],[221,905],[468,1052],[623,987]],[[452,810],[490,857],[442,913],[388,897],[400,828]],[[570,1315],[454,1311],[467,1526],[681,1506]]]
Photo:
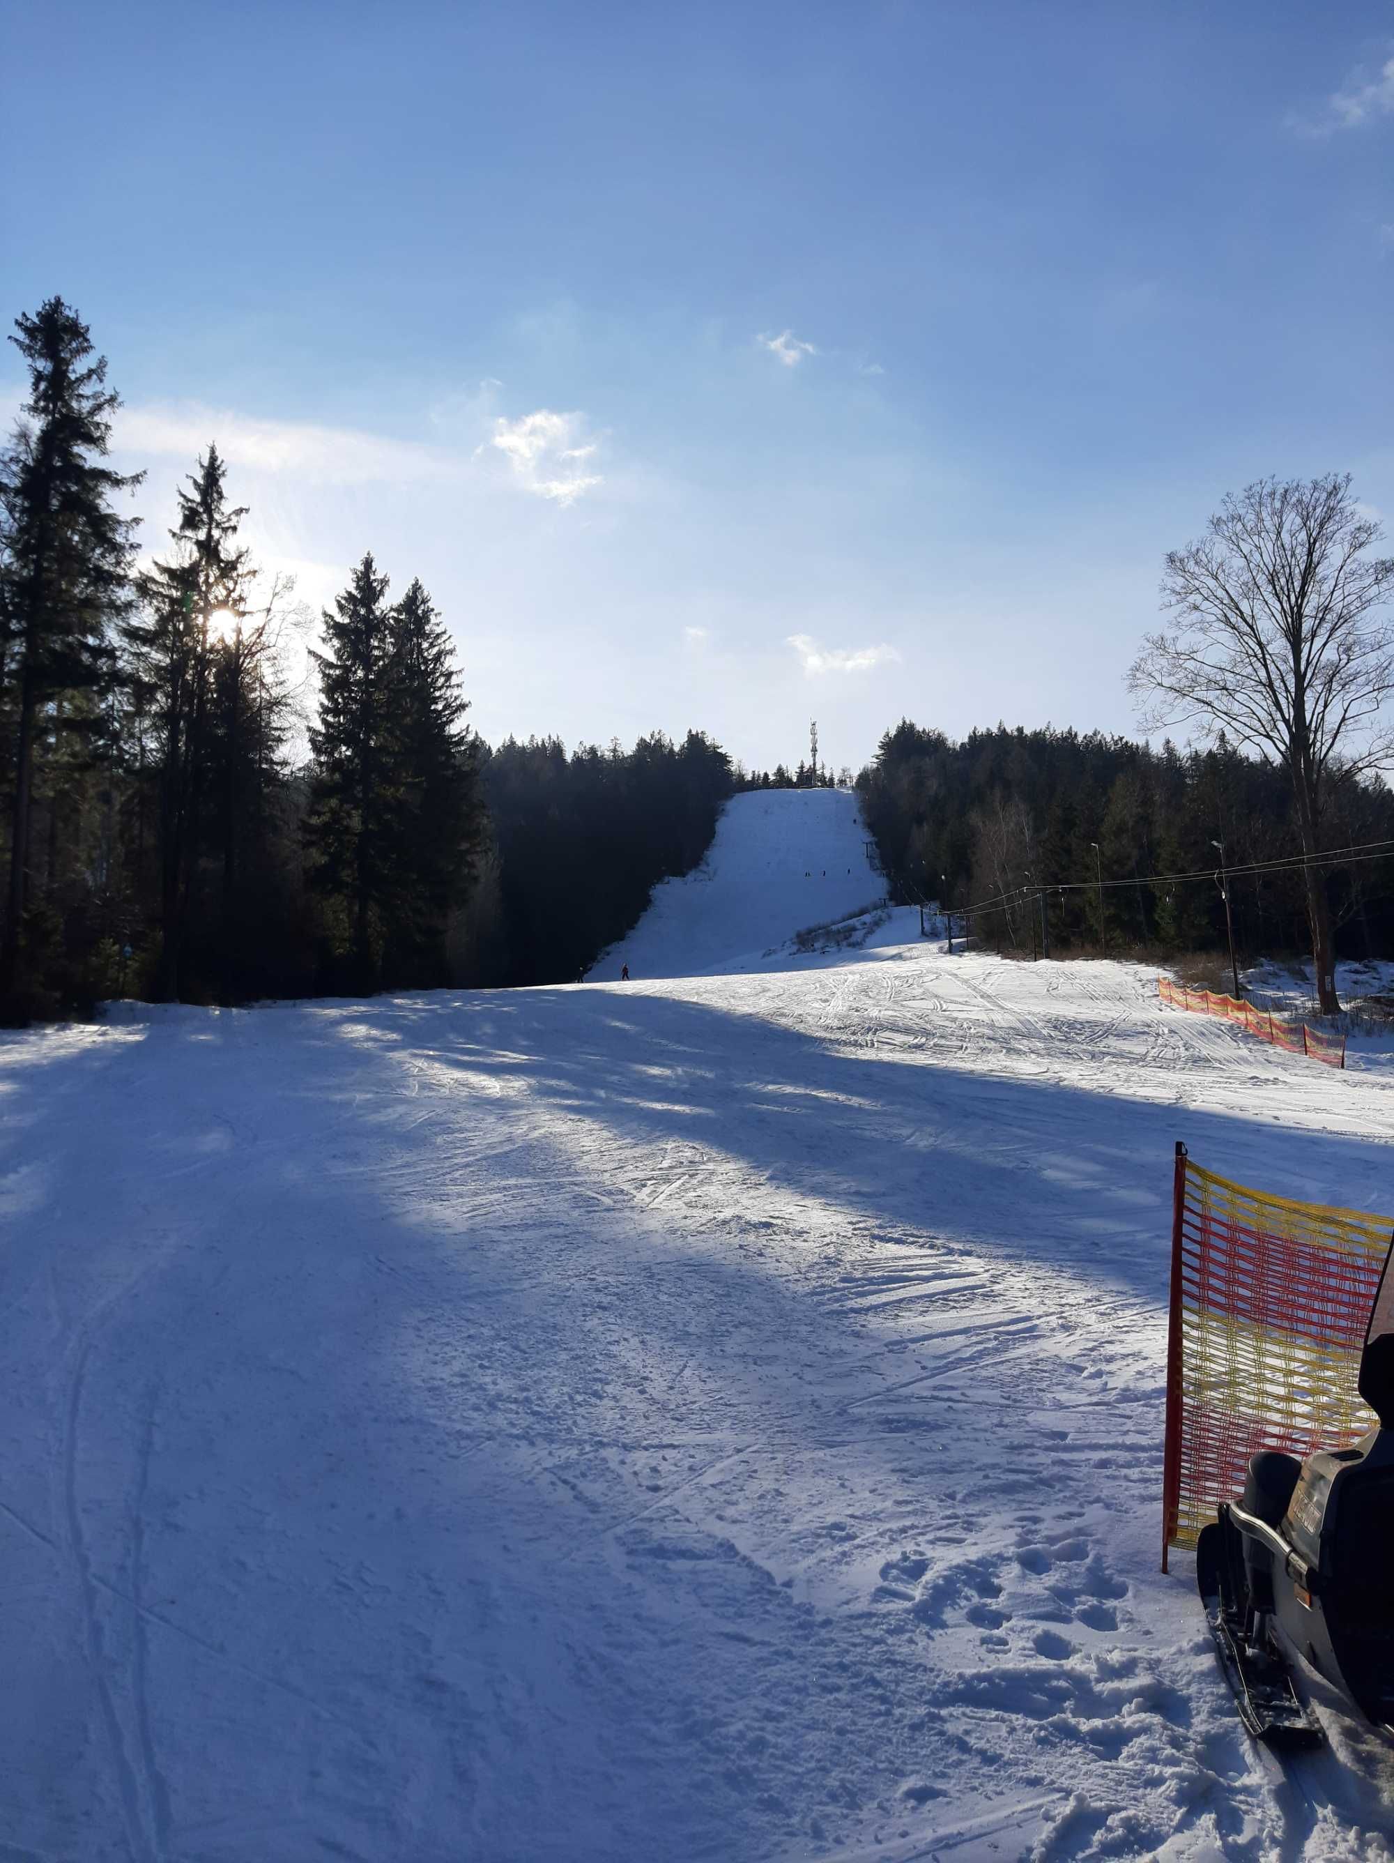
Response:
[[[0,1857],[1390,1856],[1158,1554],[1173,1142],[1394,1086],[916,924],[4,1038]]]

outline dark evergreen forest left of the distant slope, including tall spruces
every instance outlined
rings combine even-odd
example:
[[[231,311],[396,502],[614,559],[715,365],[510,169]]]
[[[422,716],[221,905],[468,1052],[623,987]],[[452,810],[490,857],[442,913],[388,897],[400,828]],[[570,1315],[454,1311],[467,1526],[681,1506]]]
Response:
[[[80,317],[17,320],[0,455],[0,1013],[571,980],[705,851],[700,732],[491,751],[443,617],[365,555],[322,617],[259,572],[216,445],[121,514]]]

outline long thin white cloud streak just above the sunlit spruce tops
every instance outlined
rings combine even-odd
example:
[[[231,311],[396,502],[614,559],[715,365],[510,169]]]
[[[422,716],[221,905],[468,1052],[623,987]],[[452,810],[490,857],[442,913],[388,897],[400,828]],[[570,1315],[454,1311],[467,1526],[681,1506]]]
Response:
[[[408,440],[385,440],[348,427],[259,421],[199,402],[119,408],[112,430],[112,442],[123,453],[173,455],[190,464],[210,440],[229,466],[292,473],[309,484],[439,479],[460,469],[449,453]]]

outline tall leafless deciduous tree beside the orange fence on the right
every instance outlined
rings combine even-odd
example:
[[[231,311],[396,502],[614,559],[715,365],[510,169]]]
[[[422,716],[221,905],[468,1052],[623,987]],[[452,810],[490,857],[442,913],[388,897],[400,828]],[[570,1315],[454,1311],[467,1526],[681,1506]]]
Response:
[[[1351,494],[1349,473],[1228,496],[1208,533],[1167,555],[1161,600],[1176,622],[1146,635],[1128,673],[1145,727],[1197,723],[1282,766],[1303,853],[1321,851],[1333,781],[1394,756],[1381,719],[1394,689],[1394,626],[1375,611],[1394,591],[1394,559]],[[1318,866],[1305,868],[1316,987],[1336,999],[1331,911]]]

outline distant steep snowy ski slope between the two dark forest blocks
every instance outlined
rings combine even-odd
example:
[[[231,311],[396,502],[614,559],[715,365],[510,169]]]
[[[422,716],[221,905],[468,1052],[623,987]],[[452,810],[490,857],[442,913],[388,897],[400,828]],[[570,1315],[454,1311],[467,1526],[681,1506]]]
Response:
[[[865,911],[886,892],[867,861],[862,809],[849,790],[752,790],[722,809],[705,861],[664,879],[590,982],[620,967],[638,976],[737,971],[808,926]]]

